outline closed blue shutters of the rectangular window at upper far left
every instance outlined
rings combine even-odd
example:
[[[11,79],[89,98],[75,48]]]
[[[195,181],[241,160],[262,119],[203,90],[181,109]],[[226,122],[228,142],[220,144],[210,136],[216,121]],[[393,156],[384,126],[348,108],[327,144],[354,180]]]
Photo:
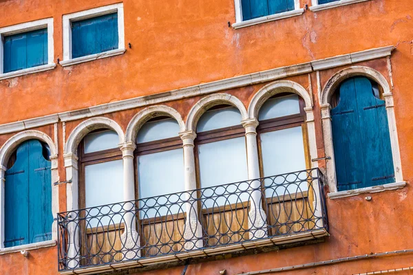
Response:
[[[47,28],[3,36],[3,73],[46,65]]]

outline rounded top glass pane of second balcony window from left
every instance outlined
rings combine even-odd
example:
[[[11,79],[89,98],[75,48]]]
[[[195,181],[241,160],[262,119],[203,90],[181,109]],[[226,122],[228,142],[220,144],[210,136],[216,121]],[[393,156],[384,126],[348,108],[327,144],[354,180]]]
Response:
[[[173,118],[146,122],[138,132],[136,143],[153,142],[154,140],[178,137],[179,132],[179,124]]]

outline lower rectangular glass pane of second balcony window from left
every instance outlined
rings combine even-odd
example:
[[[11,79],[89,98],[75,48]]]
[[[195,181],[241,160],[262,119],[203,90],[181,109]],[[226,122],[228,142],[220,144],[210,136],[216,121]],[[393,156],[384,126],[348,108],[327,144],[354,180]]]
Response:
[[[141,155],[137,161],[139,197],[144,198],[144,200],[140,201],[140,207],[145,208],[145,210],[140,213],[140,219],[162,217],[166,214],[184,212],[182,203],[176,203],[179,201],[178,196],[161,197],[157,201],[154,199],[145,199],[183,192],[185,190],[184,156],[182,148]],[[180,199],[185,199],[185,197],[181,197]],[[158,206],[164,203],[168,205]],[[156,207],[148,209],[152,206]]]

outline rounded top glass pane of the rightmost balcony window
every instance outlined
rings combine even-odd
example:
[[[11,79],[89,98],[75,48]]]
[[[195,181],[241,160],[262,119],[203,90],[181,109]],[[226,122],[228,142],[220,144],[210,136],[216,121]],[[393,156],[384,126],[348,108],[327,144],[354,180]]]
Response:
[[[258,120],[269,120],[299,113],[298,99],[297,95],[268,99],[258,113]]]

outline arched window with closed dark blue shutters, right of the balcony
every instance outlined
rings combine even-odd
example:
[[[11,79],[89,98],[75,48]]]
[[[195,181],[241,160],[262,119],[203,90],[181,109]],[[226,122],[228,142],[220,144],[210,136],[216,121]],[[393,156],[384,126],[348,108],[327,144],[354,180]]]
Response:
[[[395,181],[385,101],[377,83],[357,76],[341,83],[330,104],[337,188]]]

